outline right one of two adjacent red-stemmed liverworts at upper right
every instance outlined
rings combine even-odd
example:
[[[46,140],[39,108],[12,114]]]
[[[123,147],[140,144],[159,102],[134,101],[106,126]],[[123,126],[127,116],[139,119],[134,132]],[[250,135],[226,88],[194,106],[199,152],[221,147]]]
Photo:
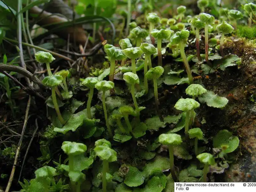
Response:
[[[200,21],[204,22],[204,24],[205,24],[205,26],[204,26],[205,60],[208,64],[211,65],[210,61],[208,60],[208,48],[209,48],[208,28],[209,28],[209,25],[214,22],[214,17],[210,14],[207,14],[207,13],[200,13],[198,18],[199,18]]]

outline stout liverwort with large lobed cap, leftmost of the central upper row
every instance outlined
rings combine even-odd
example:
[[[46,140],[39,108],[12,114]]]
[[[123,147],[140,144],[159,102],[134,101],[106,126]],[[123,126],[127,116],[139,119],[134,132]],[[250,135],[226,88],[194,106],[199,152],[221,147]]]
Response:
[[[115,47],[110,44],[106,44],[104,46],[104,51],[107,53],[109,60],[110,60],[109,81],[113,82],[116,60],[122,60],[125,58],[125,56],[119,47]]]

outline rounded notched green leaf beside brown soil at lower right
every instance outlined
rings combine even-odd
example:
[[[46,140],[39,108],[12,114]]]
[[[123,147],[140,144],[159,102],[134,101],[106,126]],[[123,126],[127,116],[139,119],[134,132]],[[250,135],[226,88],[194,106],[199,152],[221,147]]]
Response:
[[[228,148],[223,150],[223,153],[231,153],[239,145],[239,139],[237,136],[233,136],[232,132],[224,129],[218,132],[218,134],[213,138],[213,147],[221,148],[222,145],[228,145]]]

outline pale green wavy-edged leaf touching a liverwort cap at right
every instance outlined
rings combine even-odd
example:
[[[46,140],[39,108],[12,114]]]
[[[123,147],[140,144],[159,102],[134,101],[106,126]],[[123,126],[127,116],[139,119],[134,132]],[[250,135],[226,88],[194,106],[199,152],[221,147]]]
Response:
[[[203,95],[198,96],[198,100],[200,103],[206,103],[207,106],[215,108],[223,108],[228,104],[228,99],[226,97],[220,97],[208,90]]]

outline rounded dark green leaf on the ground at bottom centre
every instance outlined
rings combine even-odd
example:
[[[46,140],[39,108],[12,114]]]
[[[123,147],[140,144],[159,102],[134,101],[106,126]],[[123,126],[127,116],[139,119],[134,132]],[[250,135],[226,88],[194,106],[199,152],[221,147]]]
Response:
[[[137,167],[129,166],[129,171],[125,175],[124,184],[129,187],[137,187],[144,183],[145,176]]]

